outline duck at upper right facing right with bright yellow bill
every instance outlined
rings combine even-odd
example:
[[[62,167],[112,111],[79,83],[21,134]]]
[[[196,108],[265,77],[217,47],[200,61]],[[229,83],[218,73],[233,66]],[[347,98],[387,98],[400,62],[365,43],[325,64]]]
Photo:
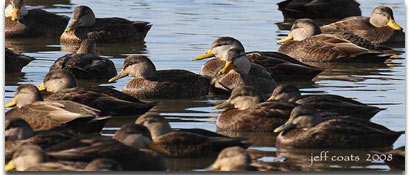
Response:
[[[405,34],[390,7],[376,7],[369,17],[355,16],[321,27],[323,33],[349,32],[375,44],[404,43]]]

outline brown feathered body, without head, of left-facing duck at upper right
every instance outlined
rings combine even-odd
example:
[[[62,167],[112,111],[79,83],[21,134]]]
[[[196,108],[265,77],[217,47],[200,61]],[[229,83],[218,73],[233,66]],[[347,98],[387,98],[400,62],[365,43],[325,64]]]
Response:
[[[290,40],[278,51],[305,62],[384,62],[391,56],[359,47],[332,34]]]

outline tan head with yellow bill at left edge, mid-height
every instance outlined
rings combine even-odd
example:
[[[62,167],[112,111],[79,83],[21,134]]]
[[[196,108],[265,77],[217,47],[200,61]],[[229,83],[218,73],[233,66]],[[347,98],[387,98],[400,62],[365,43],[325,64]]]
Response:
[[[40,91],[32,84],[24,84],[17,88],[13,100],[7,103],[5,107],[17,106],[21,108],[36,101],[43,101]]]

